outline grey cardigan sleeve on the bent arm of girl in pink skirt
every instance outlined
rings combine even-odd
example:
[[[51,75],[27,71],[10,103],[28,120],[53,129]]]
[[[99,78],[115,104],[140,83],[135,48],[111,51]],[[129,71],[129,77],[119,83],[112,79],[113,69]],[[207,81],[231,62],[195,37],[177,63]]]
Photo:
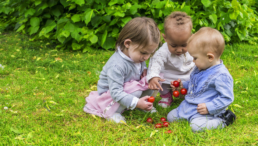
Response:
[[[129,109],[134,96],[124,92],[125,70],[118,65],[111,66],[107,71],[107,78],[112,99]]]

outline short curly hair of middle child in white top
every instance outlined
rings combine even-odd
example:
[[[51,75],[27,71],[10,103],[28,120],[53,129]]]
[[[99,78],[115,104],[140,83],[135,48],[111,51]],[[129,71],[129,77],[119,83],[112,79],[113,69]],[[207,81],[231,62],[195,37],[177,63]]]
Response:
[[[171,20],[175,20],[175,21],[171,21]],[[168,15],[164,20],[165,34],[173,26],[182,27],[185,25],[189,25],[192,31],[192,28],[193,28],[192,19],[190,16],[186,14],[186,12],[180,12],[180,11],[171,12],[171,14]]]

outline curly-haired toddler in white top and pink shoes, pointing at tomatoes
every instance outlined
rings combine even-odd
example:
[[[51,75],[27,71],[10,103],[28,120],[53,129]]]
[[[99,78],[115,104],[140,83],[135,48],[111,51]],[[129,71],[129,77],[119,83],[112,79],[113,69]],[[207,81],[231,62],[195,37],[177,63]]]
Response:
[[[159,106],[168,107],[174,101],[170,82],[189,80],[195,66],[193,57],[187,52],[187,43],[192,33],[193,23],[191,17],[185,12],[172,12],[164,20],[162,36],[166,43],[150,58],[147,80],[149,89],[159,90],[161,100]],[[160,73],[164,74],[161,79]],[[162,82],[162,84],[159,83]]]

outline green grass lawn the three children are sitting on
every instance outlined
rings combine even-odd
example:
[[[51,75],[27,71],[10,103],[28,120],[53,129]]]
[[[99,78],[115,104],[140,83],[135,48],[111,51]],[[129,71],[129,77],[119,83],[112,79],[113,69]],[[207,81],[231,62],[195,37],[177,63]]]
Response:
[[[99,71],[114,51],[56,50],[52,42],[29,39],[17,33],[0,35],[0,64],[5,67],[0,69],[0,145],[258,144],[256,45],[227,45],[221,57],[234,79],[235,100],[229,109],[235,112],[236,122],[194,134],[186,122],[161,129],[145,122],[152,117],[158,123],[182,99],[163,109],[157,106],[157,96],[158,113],[128,110],[123,113],[127,125],[84,113],[85,97],[96,90]],[[173,133],[164,134],[165,130]]]

